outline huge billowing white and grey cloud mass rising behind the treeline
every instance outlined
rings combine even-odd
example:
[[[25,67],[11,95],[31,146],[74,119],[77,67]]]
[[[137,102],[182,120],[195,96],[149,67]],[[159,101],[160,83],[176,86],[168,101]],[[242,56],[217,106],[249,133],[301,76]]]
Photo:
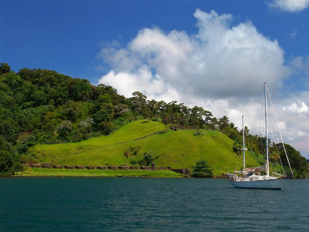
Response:
[[[125,97],[140,91],[148,99],[198,105],[217,118],[227,115],[238,127],[245,115],[246,121],[251,122],[245,124],[252,128],[263,81],[268,79],[272,94],[278,96],[291,72],[305,68],[305,59],[294,59],[294,64],[284,65],[284,51],[277,40],[259,33],[250,21],[232,25],[230,14],[199,9],[194,17],[196,34],[143,28],[125,46],[114,41],[104,47],[98,57],[111,70],[101,77],[99,84],[111,85]],[[305,92],[304,99],[309,99],[307,95]],[[295,115],[298,120],[309,120],[304,103],[307,100],[293,96],[289,104],[277,102],[278,115],[283,116],[279,117],[281,125],[288,131],[298,128],[286,135],[295,139],[304,135],[297,131],[309,131],[289,120]]]

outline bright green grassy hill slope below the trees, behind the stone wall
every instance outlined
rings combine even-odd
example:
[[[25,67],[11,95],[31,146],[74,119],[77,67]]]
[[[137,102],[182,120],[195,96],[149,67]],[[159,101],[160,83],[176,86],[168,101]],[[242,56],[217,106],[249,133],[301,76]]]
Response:
[[[157,166],[190,168],[194,161],[204,158],[214,168],[214,175],[221,175],[242,167],[242,157],[233,152],[234,141],[219,131],[204,131],[204,136],[194,136],[193,130],[165,132],[160,122],[137,120],[121,127],[109,136],[100,136],[78,143],[36,145],[30,153],[40,163],[68,165],[124,165],[123,152],[129,146],[141,146],[135,160],[144,152],[153,150]],[[247,152],[249,165],[258,165]]]

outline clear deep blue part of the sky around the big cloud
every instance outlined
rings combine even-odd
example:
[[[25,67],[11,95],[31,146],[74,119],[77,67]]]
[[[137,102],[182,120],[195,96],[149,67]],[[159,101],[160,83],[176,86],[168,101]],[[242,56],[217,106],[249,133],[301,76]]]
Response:
[[[97,53],[113,40],[128,43],[138,30],[197,33],[199,8],[232,14],[232,24],[250,20],[260,33],[277,39],[286,59],[309,54],[309,11],[270,9],[267,1],[1,1],[0,59],[20,68],[46,68],[96,84]],[[291,34],[295,33],[294,37]],[[100,64],[102,65],[102,64]]]

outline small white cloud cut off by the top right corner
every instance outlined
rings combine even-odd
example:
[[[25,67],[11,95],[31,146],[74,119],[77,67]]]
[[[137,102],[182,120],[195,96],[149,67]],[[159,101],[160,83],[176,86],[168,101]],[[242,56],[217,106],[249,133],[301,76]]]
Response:
[[[299,12],[309,7],[309,0],[274,0],[269,6],[282,11]]]

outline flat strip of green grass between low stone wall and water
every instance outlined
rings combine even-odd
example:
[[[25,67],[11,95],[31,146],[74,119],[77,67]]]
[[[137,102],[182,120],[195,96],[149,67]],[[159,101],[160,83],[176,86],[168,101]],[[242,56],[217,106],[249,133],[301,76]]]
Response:
[[[148,170],[88,170],[88,169],[47,169],[32,168],[32,174],[22,174],[22,176],[148,176],[148,177],[187,177],[170,170],[148,171]],[[20,175],[19,175],[20,176]]]

